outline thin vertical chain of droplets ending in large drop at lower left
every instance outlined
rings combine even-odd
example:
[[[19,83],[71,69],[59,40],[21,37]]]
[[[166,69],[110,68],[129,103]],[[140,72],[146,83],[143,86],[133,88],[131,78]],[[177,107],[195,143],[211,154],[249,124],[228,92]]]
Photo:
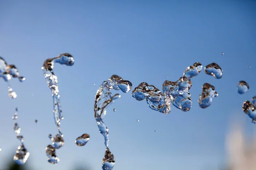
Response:
[[[18,108],[15,108],[15,115],[12,116],[12,119],[15,121],[18,118]],[[16,162],[16,164],[23,165],[26,163],[27,159],[29,158],[29,152],[26,150],[24,146],[24,138],[22,135],[20,135],[21,128],[19,125],[15,122],[14,124],[14,131],[16,133],[16,138],[20,141],[20,146],[18,146],[18,150],[16,151],[15,156],[13,157],[13,160]]]

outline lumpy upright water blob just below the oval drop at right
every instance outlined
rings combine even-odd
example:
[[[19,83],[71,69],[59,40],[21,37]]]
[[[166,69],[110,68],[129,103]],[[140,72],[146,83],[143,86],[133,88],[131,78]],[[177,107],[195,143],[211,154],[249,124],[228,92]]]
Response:
[[[217,97],[218,93],[215,92],[215,87],[209,83],[204,83],[202,94],[199,95],[200,108],[208,108],[212,104],[212,98]]]

